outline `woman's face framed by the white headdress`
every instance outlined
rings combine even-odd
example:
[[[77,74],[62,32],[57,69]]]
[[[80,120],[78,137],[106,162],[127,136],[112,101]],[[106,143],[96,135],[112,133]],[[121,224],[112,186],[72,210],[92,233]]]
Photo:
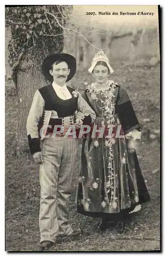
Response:
[[[93,69],[93,76],[95,77],[95,81],[99,83],[106,82],[108,80],[108,68],[103,65],[97,65]]]

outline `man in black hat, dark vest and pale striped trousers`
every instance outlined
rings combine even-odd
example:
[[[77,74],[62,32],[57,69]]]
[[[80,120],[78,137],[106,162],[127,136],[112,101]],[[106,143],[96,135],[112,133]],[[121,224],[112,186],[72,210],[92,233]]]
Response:
[[[78,142],[74,136],[65,135],[67,128],[75,123],[75,112],[82,112],[80,116],[83,117],[83,121],[76,120],[76,129],[83,123],[90,125],[96,115],[80,93],[66,86],[76,72],[73,56],[51,55],[43,61],[42,71],[51,84],[35,92],[27,133],[31,154],[35,163],[40,164],[39,229],[41,249],[46,250],[54,245],[58,235],[78,235],[68,221]]]

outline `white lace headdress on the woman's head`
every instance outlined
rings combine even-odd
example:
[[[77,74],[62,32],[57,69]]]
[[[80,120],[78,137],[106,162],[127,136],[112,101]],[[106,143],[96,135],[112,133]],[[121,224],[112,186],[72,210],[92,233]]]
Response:
[[[95,66],[97,65],[97,62],[98,61],[104,61],[106,62],[108,68],[109,68],[109,71],[111,73],[113,73],[114,71],[112,70],[111,66],[110,66],[110,63],[109,63],[109,60],[107,58],[107,55],[101,50],[99,51],[95,57],[92,59],[92,62],[91,62],[91,67],[88,69],[89,73],[92,73],[93,69],[95,68]]]

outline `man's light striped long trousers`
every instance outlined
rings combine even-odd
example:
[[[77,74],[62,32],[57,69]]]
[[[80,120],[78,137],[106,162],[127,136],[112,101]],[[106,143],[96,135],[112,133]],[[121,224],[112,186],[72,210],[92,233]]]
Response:
[[[72,137],[52,137],[41,141],[40,242],[55,242],[58,234],[73,232],[68,220],[68,204],[77,146],[77,139]]]

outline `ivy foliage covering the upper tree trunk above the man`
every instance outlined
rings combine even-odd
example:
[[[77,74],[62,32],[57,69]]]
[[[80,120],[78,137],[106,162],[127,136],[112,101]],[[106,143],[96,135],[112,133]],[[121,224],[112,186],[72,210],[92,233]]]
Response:
[[[9,41],[9,64],[13,66],[18,60],[18,56],[23,52],[28,53],[23,57],[38,61],[40,64],[46,55],[63,50],[63,29],[57,24],[52,13],[60,20],[67,12],[72,10],[66,6],[20,6],[6,7],[6,26],[11,30]],[[65,21],[63,22],[65,26]],[[56,35],[56,36],[54,36]]]

